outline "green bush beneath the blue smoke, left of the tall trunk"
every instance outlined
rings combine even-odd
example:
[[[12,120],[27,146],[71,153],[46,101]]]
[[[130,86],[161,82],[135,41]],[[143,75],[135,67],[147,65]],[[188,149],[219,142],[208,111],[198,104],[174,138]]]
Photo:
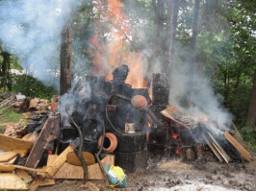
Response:
[[[13,76],[13,92],[20,92],[27,97],[38,97],[41,99],[50,99],[56,91],[53,87],[45,86],[37,79],[28,75]]]

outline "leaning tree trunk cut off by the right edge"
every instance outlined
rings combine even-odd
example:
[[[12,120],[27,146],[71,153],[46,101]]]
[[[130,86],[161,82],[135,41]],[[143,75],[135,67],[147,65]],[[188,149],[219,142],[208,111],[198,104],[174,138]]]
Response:
[[[251,126],[256,126],[256,70],[254,72],[250,104],[248,108],[247,124]]]

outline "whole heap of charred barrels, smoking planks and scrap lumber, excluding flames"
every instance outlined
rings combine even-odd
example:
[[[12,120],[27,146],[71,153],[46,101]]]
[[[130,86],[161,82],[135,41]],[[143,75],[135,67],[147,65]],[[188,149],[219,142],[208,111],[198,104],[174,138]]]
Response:
[[[0,177],[11,180],[0,188],[26,190],[30,184],[36,190],[55,179],[109,184],[107,165],[118,165],[126,173],[143,169],[152,143],[164,144],[170,154],[189,160],[211,151],[220,162],[250,161],[229,132],[172,106],[166,108],[169,91],[164,74],[153,75],[151,100],[147,88],[125,84],[128,73],[129,67],[121,65],[113,71],[112,81],[87,76],[60,98],[60,104],[58,96],[51,105],[32,100],[27,113],[31,122],[16,134],[0,134]],[[12,180],[15,186],[10,185]]]

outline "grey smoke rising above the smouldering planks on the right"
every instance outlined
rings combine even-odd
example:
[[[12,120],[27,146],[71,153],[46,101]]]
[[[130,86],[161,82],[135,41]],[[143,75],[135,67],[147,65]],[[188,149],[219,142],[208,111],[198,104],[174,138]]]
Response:
[[[231,114],[222,107],[222,96],[215,93],[210,78],[203,73],[194,70],[191,75],[188,61],[181,59],[190,54],[180,49],[178,52],[171,69],[169,104],[186,114],[206,117],[217,124],[218,129],[226,129],[231,123]]]

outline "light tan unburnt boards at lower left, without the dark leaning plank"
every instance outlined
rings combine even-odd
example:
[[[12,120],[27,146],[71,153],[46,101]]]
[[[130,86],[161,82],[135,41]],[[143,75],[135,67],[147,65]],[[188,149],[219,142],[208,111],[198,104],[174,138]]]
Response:
[[[0,134],[0,189],[1,190],[37,190],[38,186],[54,185],[55,179],[83,180],[82,166],[73,165],[68,155],[73,153],[73,146],[68,146],[62,154],[49,155],[47,164],[41,168],[15,165],[19,157],[32,154],[35,143]],[[69,163],[68,163],[68,162]],[[115,156],[105,156],[101,163],[105,167],[113,165]],[[71,164],[70,164],[71,163]],[[88,166],[89,180],[104,180],[98,163]]]

